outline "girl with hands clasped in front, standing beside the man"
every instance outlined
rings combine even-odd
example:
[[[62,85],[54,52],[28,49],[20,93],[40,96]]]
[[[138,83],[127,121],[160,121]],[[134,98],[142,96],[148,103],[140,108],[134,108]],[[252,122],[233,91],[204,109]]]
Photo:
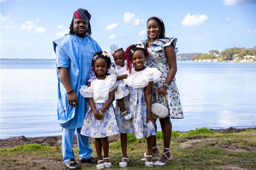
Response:
[[[111,66],[110,56],[106,52],[97,52],[92,57],[92,71],[95,73],[87,86],[79,90],[83,97],[88,97],[86,114],[81,134],[95,138],[95,149],[98,156],[97,169],[111,167],[109,160],[108,136],[119,133],[114,113],[116,75],[108,74]],[[102,148],[104,160],[102,159]]]

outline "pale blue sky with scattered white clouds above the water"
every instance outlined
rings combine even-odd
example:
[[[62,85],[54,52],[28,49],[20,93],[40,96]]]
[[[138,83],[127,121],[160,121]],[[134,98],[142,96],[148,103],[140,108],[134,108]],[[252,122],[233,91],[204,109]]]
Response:
[[[166,37],[183,53],[256,46],[256,0],[15,1],[0,0],[0,58],[54,59],[52,41],[69,33],[77,8],[92,15],[92,37],[109,52],[147,37],[146,22],[159,16]]]

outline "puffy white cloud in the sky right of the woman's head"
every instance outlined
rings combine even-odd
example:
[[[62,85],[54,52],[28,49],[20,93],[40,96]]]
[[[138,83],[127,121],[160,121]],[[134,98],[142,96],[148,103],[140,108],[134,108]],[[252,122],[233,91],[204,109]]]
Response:
[[[185,27],[196,27],[203,25],[208,20],[205,14],[190,15],[187,14],[185,19],[182,20],[182,25]]]

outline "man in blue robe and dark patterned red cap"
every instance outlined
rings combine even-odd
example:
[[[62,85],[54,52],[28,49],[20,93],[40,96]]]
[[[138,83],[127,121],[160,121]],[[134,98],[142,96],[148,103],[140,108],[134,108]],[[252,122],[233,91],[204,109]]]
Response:
[[[92,39],[91,15],[78,8],[74,12],[69,34],[53,41],[58,77],[58,120],[62,127],[62,155],[68,168],[78,168],[73,151],[75,131],[79,162],[97,164],[92,156],[89,137],[80,134],[85,116],[87,98],[79,94],[80,86],[87,85],[91,74],[91,58],[101,50]]]

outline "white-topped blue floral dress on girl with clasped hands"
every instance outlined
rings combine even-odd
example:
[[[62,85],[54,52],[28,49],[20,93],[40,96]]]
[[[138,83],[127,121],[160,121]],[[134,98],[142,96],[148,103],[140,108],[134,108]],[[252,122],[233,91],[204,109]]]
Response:
[[[91,81],[91,86],[81,86],[79,91],[83,97],[92,97],[95,107],[99,111],[108,100],[109,92],[117,86],[116,75],[107,75],[105,80],[98,80],[94,77],[89,81]],[[92,138],[104,138],[119,133],[113,104],[103,112],[103,116],[102,120],[97,120],[87,103],[81,134]]]

